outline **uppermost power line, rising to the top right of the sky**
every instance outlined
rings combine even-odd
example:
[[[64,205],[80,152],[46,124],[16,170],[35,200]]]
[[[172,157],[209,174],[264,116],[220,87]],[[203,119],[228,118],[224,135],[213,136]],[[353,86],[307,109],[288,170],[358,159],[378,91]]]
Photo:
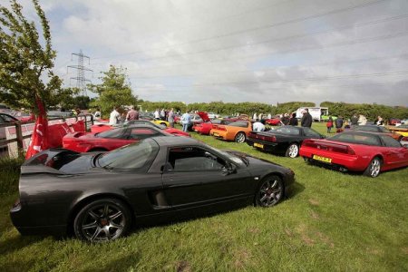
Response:
[[[364,4],[360,4],[360,5],[348,6],[348,7],[341,8],[341,9],[334,9],[334,10],[331,10],[331,11],[328,11],[328,12],[325,12],[325,13],[317,13],[315,15],[307,15],[307,16],[303,16],[303,17],[299,17],[299,18],[296,18],[296,19],[291,19],[291,20],[287,20],[287,21],[283,21],[283,22],[279,22],[279,23],[275,23],[275,24],[267,24],[267,25],[248,28],[248,29],[245,29],[245,30],[231,32],[231,33],[228,33],[228,34],[219,34],[219,35],[215,35],[215,36],[212,36],[212,37],[191,40],[191,41],[185,42],[185,43],[173,44],[173,45],[168,45],[168,46],[165,46],[165,47],[163,46],[163,47],[160,47],[160,48],[150,49],[150,50],[146,50],[146,51],[134,51],[134,52],[130,52],[130,53],[114,54],[114,55],[110,55],[110,56],[97,57],[97,58],[94,58],[94,59],[104,59],[104,58],[111,58],[111,57],[117,57],[117,56],[126,56],[126,55],[131,55],[131,54],[136,54],[136,53],[146,53],[146,52],[157,51],[157,50],[161,50],[161,49],[169,49],[171,47],[176,47],[176,46],[185,45],[185,44],[197,44],[197,43],[201,43],[201,42],[208,41],[208,40],[219,39],[219,38],[224,38],[224,37],[233,36],[233,35],[237,35],[237,34],[244,34],[244,33],[248,33],[248,32],[254,32],[254,31],[267,29],[267,28],[272,28],[272,27],[277,27],[277,26],[281,26],[281,25],[285,25],[285,24],[299,23],[299,22],[303,22],[303,21],[306,21],[306,20],[322,17],[322,16],[325,16],[325,15],[335,15],[335,14],[338,14],[338,13],[343,13],[345,11],[354,10],[354,9],[357,9],[357,8],[363,8],[363,7],[370,6],[370,5],[377,5],[377,4],[380,4],[380,3],[384,2],[384,1],[389,1],[389,0],[377,0],[377,1],[374,1],[374,2],[368,2],[368,3],[364,3]]]

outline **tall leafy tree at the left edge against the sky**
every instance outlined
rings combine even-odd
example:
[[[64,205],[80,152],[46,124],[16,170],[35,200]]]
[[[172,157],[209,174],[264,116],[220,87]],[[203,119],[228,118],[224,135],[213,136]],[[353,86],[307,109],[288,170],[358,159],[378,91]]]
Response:
[[[32,1],[44,45],[34,22],[25,19],[22,5],[16,0],[10,0],[10,8],[0,5],[0,101],[38,113],[38,99],[44,106],[58,102],[62,82],[52,70],[56,52],[50,26],[38,0]]]

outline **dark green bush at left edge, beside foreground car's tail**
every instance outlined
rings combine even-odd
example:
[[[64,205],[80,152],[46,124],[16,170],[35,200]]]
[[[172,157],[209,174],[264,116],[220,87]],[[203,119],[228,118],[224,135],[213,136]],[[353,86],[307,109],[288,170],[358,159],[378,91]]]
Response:
[[[0,159],[0,196],[13,194],[18,191],[20,166],[23,162],[23,158]]]

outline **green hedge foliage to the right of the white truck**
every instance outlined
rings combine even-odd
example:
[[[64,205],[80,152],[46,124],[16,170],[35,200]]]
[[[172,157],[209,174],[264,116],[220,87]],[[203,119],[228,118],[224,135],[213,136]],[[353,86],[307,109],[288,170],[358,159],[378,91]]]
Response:
[[[375,120],[377,116],[382,116],[384,120],[389,118],[404,119],[408,117],[408,108],[392,107],[380,104],[356,104],[345,102],[322,102],[322,107],[328,107],[329,113],[335,116],[350,118],[353,114],[363,114],[368,120]]]

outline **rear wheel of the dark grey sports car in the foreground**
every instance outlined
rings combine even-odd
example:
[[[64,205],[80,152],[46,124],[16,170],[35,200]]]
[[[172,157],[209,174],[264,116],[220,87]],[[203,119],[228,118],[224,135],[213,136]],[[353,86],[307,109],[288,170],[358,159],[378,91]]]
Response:
[[[119,199],[98,199],[81,209],[73,220],[76,238],[105,242],[121,238],[131,228],[131,212]]]

